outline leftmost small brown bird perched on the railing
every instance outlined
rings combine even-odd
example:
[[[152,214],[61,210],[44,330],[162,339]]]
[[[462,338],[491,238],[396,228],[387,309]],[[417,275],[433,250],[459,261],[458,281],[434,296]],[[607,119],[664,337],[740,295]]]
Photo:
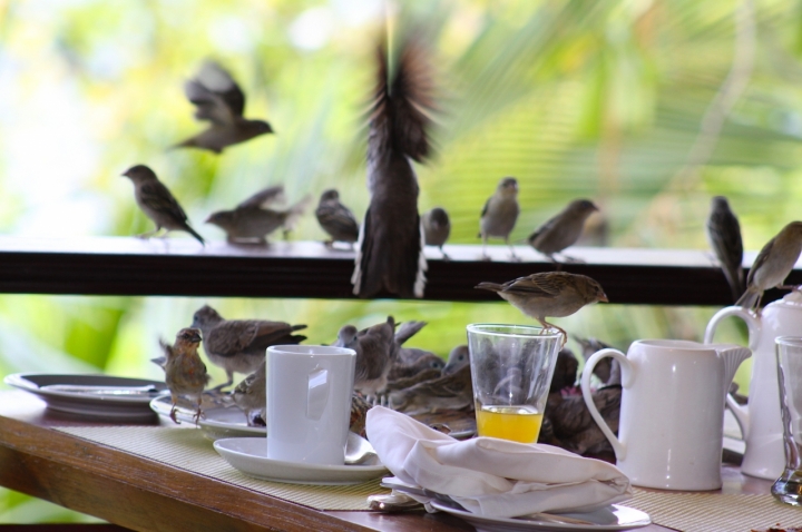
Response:
[[[156,224],[155,230],[139,235],[140,238],[148,238],[164,228],[166,229],[165,235],[172,230],[184,230],[204,244],[203,237],[189,227],[187,216],[176,198],[158,180],[150,168],[145,165],[136,165],[123,173],[123,176],[134,183],[134,197],[137,205]]]

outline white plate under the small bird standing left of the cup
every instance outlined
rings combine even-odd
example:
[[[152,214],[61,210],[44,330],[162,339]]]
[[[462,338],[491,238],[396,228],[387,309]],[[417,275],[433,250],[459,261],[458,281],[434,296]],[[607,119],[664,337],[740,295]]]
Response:
[[[265,437],[267,435],[267,428],[264,426],[248,426],[245,412],[235,404],[224,406],[219,400],[204,395],[200,407],[204,415],[198,421],[198,426],[203,430],[204,435],[213,442],[224,437]],[[169,420],[173,402],[169,395],[156,397],[150,402],[150,408],[162,417]],[[176,408],[176,418],[180,422],[195,423],[194,416],[195,404],[180,400]]]

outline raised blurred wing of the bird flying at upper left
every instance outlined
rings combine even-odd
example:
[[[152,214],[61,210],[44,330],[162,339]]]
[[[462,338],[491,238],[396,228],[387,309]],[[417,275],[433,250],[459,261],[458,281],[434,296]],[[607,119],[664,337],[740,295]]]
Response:
[[[195,79],[184,83],[184,93],[196,107],[195,118],[218,126],[242,117],[245,95],[231,75],[213,61],[204,62]]]

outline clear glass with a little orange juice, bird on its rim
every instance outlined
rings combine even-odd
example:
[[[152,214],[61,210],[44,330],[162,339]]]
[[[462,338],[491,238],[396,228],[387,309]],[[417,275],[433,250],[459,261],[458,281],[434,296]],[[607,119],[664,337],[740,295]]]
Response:
[[[563,334],[529,325],[468,325],[480,436],[535,443]]]

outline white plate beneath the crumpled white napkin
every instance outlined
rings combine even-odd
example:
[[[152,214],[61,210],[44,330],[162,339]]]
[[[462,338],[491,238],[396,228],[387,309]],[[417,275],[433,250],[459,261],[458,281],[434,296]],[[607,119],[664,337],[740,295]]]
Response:
[[[441,512],[447,512],[468,521],[476,528],[477,532],[532,532],[547,530],[596,532],[603,530],[640,529],[652,524],[652,519],[647,513],[620,504],[610,504],[594,512],[555,514],[557,519],[565,516],[587,521],[587,524],[560,523],[531,518],[486,518],[462,509],[456,509],[446,502],[437,500],[432,501],[431,505]]]

